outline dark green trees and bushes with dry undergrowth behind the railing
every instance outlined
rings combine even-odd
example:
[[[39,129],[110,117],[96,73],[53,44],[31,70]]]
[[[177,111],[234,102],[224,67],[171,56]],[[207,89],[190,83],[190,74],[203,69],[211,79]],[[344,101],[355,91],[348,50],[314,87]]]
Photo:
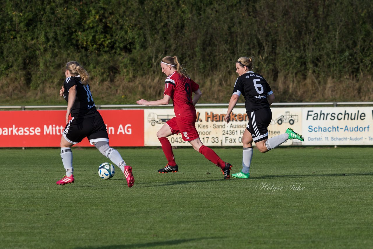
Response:
[[[69,60],[90,73],[100,104],[160,98],[166,55],[201,85],[202,102],[229,101],[241,56],[254,56],[275,102],[373,100],[371,0],[1,0],[1,9],[2,104],[58,103]]]

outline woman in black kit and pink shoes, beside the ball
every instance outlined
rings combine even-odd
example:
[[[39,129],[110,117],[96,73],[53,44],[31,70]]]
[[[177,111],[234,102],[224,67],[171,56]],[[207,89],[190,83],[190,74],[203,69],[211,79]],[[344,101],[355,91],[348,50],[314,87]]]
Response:
[[[128,187],[132,187],[135,181],[132,167],[127,166],[119,152],[109,146],[106,125],[93,102],[87,71],[78,62],[70,61],[66,64],[65,76],[60,96],[68,102],[68,109],[65,116],[66,127],[61,137],[60,155],[66,175],[56,183],[74,183],[71,146],[87,137],[91,144],[122,170]],[[70,114],[72,119],[69,121]]]

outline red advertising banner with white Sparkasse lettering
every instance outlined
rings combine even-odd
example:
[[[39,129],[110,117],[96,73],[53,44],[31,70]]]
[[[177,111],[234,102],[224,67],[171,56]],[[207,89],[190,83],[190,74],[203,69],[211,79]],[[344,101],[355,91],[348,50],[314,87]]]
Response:
[[[109,144],[144,146],[144,110],[100,110]],[[66,111],[0,111],[0,147],[59,147]],[[93,146],[84,138],[75,146]]]

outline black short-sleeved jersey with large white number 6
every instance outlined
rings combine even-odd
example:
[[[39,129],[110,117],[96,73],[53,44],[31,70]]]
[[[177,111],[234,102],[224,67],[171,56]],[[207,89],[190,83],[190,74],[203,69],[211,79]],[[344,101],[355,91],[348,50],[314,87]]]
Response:
[[[246,112],[250,113],[261,108],[268,108],[267,95],[272,94],[269,84],[260,74],[248,71],[239,76],[233,88],[233,94],[245,97]]]

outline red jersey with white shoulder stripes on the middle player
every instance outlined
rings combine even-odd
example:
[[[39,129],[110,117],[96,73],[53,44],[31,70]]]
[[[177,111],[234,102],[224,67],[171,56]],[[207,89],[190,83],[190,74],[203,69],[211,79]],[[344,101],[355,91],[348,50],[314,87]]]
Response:
[[[164,83],[163,95],[171,97],[176,118],[195,114],[192,92],[197,91],[200,85],[178,72],[169,75]]]

